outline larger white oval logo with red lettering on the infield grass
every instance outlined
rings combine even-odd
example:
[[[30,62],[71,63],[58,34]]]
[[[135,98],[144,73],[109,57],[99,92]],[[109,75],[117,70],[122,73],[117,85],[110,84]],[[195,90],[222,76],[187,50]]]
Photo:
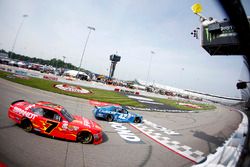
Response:
[[[66,92],[72,92],[72,93],[80,93],[80,94],[88,94],[91,93],[90,91],[83,89],[80,86],[73,86],[68,84],[58,84],[54,85],[55,88],[66,91]]]

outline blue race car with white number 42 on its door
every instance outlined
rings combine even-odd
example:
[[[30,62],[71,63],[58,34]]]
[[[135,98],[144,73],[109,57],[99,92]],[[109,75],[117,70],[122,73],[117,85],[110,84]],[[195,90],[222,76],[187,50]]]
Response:
[[[97,119],[104,119],[108,122],[131,122],[141,123],[142,116],[128,112],[125,108],[120,106],[105,106],[96,107],[93,109],[93,113]]]

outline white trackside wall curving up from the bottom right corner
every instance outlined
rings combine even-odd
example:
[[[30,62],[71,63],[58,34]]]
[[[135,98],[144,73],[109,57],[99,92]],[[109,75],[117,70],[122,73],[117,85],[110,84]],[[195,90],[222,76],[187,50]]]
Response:
[[[238,129],[228,140],[226,140],[223,146],[216,149],[214,154],[209,154],[206,161],[201,164],[193,165],[193,167],[233,167],[237,165],[248,132],[248,118],[243,112],[239,112],[242,114],[243,118]]]

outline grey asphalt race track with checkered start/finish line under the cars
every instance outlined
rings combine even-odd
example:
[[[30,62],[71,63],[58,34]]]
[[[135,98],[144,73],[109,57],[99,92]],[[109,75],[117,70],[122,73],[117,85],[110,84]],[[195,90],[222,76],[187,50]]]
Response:
[[[78,99],[41,91],[0,79],[0,164],[7,166],[191,166],[213,153],[241,122],[238,112],[217,105],[214,111],[161,113],[133,111],[143,124],[96,120],[93,106]],[[72,114],[97,121],[104,142],[84,145],[24,132],[7,116],[11,102],[51,101]]]

